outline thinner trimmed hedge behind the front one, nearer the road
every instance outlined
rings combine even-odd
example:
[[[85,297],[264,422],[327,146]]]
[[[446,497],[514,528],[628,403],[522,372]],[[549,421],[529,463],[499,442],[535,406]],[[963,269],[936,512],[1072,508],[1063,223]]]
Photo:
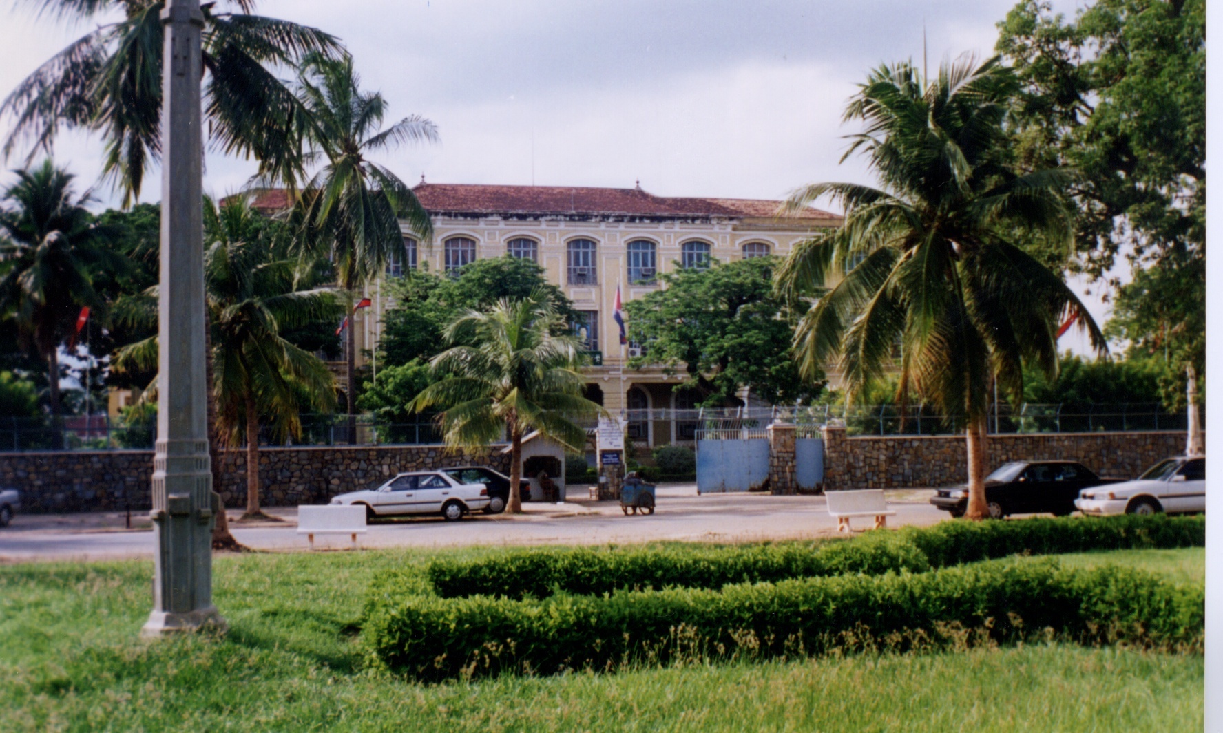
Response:
[[[427,575],[438,595],[545,597],[555,591],[722,588],[844,573],[882,574],[1005,557],[1091,550],[1205,546],[1203,517],[1110,517],[942,522],[850,540],[737,547],[514,550],[478,561],[439,560]]]

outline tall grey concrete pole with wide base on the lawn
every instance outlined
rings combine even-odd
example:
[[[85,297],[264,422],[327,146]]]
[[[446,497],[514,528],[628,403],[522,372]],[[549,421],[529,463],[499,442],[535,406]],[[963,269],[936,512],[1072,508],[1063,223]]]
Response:
[[[208,459],[204,384],[203,133],[199,0],[161,11],[161,279],[153,464],[153,612],[144,636],[225,628],[213,606],[212,530],[220,496]]]

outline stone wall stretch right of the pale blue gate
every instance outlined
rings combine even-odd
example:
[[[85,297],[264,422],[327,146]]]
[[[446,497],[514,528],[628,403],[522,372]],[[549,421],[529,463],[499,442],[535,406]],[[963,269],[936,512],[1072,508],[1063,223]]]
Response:
[[[1079,461],[1104,476],[1134,478],[1185,452],[1185,432],[1060,432],[991,435],[989,470],[1009,461]],[[969,480],[963,435],[848,437],[824,429],[824,489],[906,489]]]

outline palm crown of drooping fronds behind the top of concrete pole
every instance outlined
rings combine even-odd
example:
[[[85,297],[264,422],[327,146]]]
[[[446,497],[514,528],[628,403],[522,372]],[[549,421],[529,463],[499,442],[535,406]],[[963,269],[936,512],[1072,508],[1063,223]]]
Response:
[[[29,144],[50,150],[60,127],[99,132],[106,140],[104,175],[139,197],[144,171],[160,154],[164,0],[35,0],[42,10],[82,22],[122,10],[38,67],[0,103],[11,119],[5,156]],[[252,15],[254,0],[213,2],[204,17],[204,114],[212,144],[225,154],[253,155],[260,175],[292,177],[301,170],[301,106],[273,73],[311,53],[338,54],[318,31]]]

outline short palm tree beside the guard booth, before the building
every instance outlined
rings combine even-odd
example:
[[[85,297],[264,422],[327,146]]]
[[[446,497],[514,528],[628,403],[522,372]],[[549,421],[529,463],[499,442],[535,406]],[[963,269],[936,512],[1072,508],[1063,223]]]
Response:
[[[483,447],[510,436],[510,506],[522,512],[522,437],[532,430],[570,451],[586,447],[586,431],[571,421],[603,408],[582,397],[581,345],[558,336],[561,318],[543,291],[503,299],[487,313],[468,310],[446,327],[453,346],[429,363],[438,379],[408,404],[442,408],[446,445]]]

